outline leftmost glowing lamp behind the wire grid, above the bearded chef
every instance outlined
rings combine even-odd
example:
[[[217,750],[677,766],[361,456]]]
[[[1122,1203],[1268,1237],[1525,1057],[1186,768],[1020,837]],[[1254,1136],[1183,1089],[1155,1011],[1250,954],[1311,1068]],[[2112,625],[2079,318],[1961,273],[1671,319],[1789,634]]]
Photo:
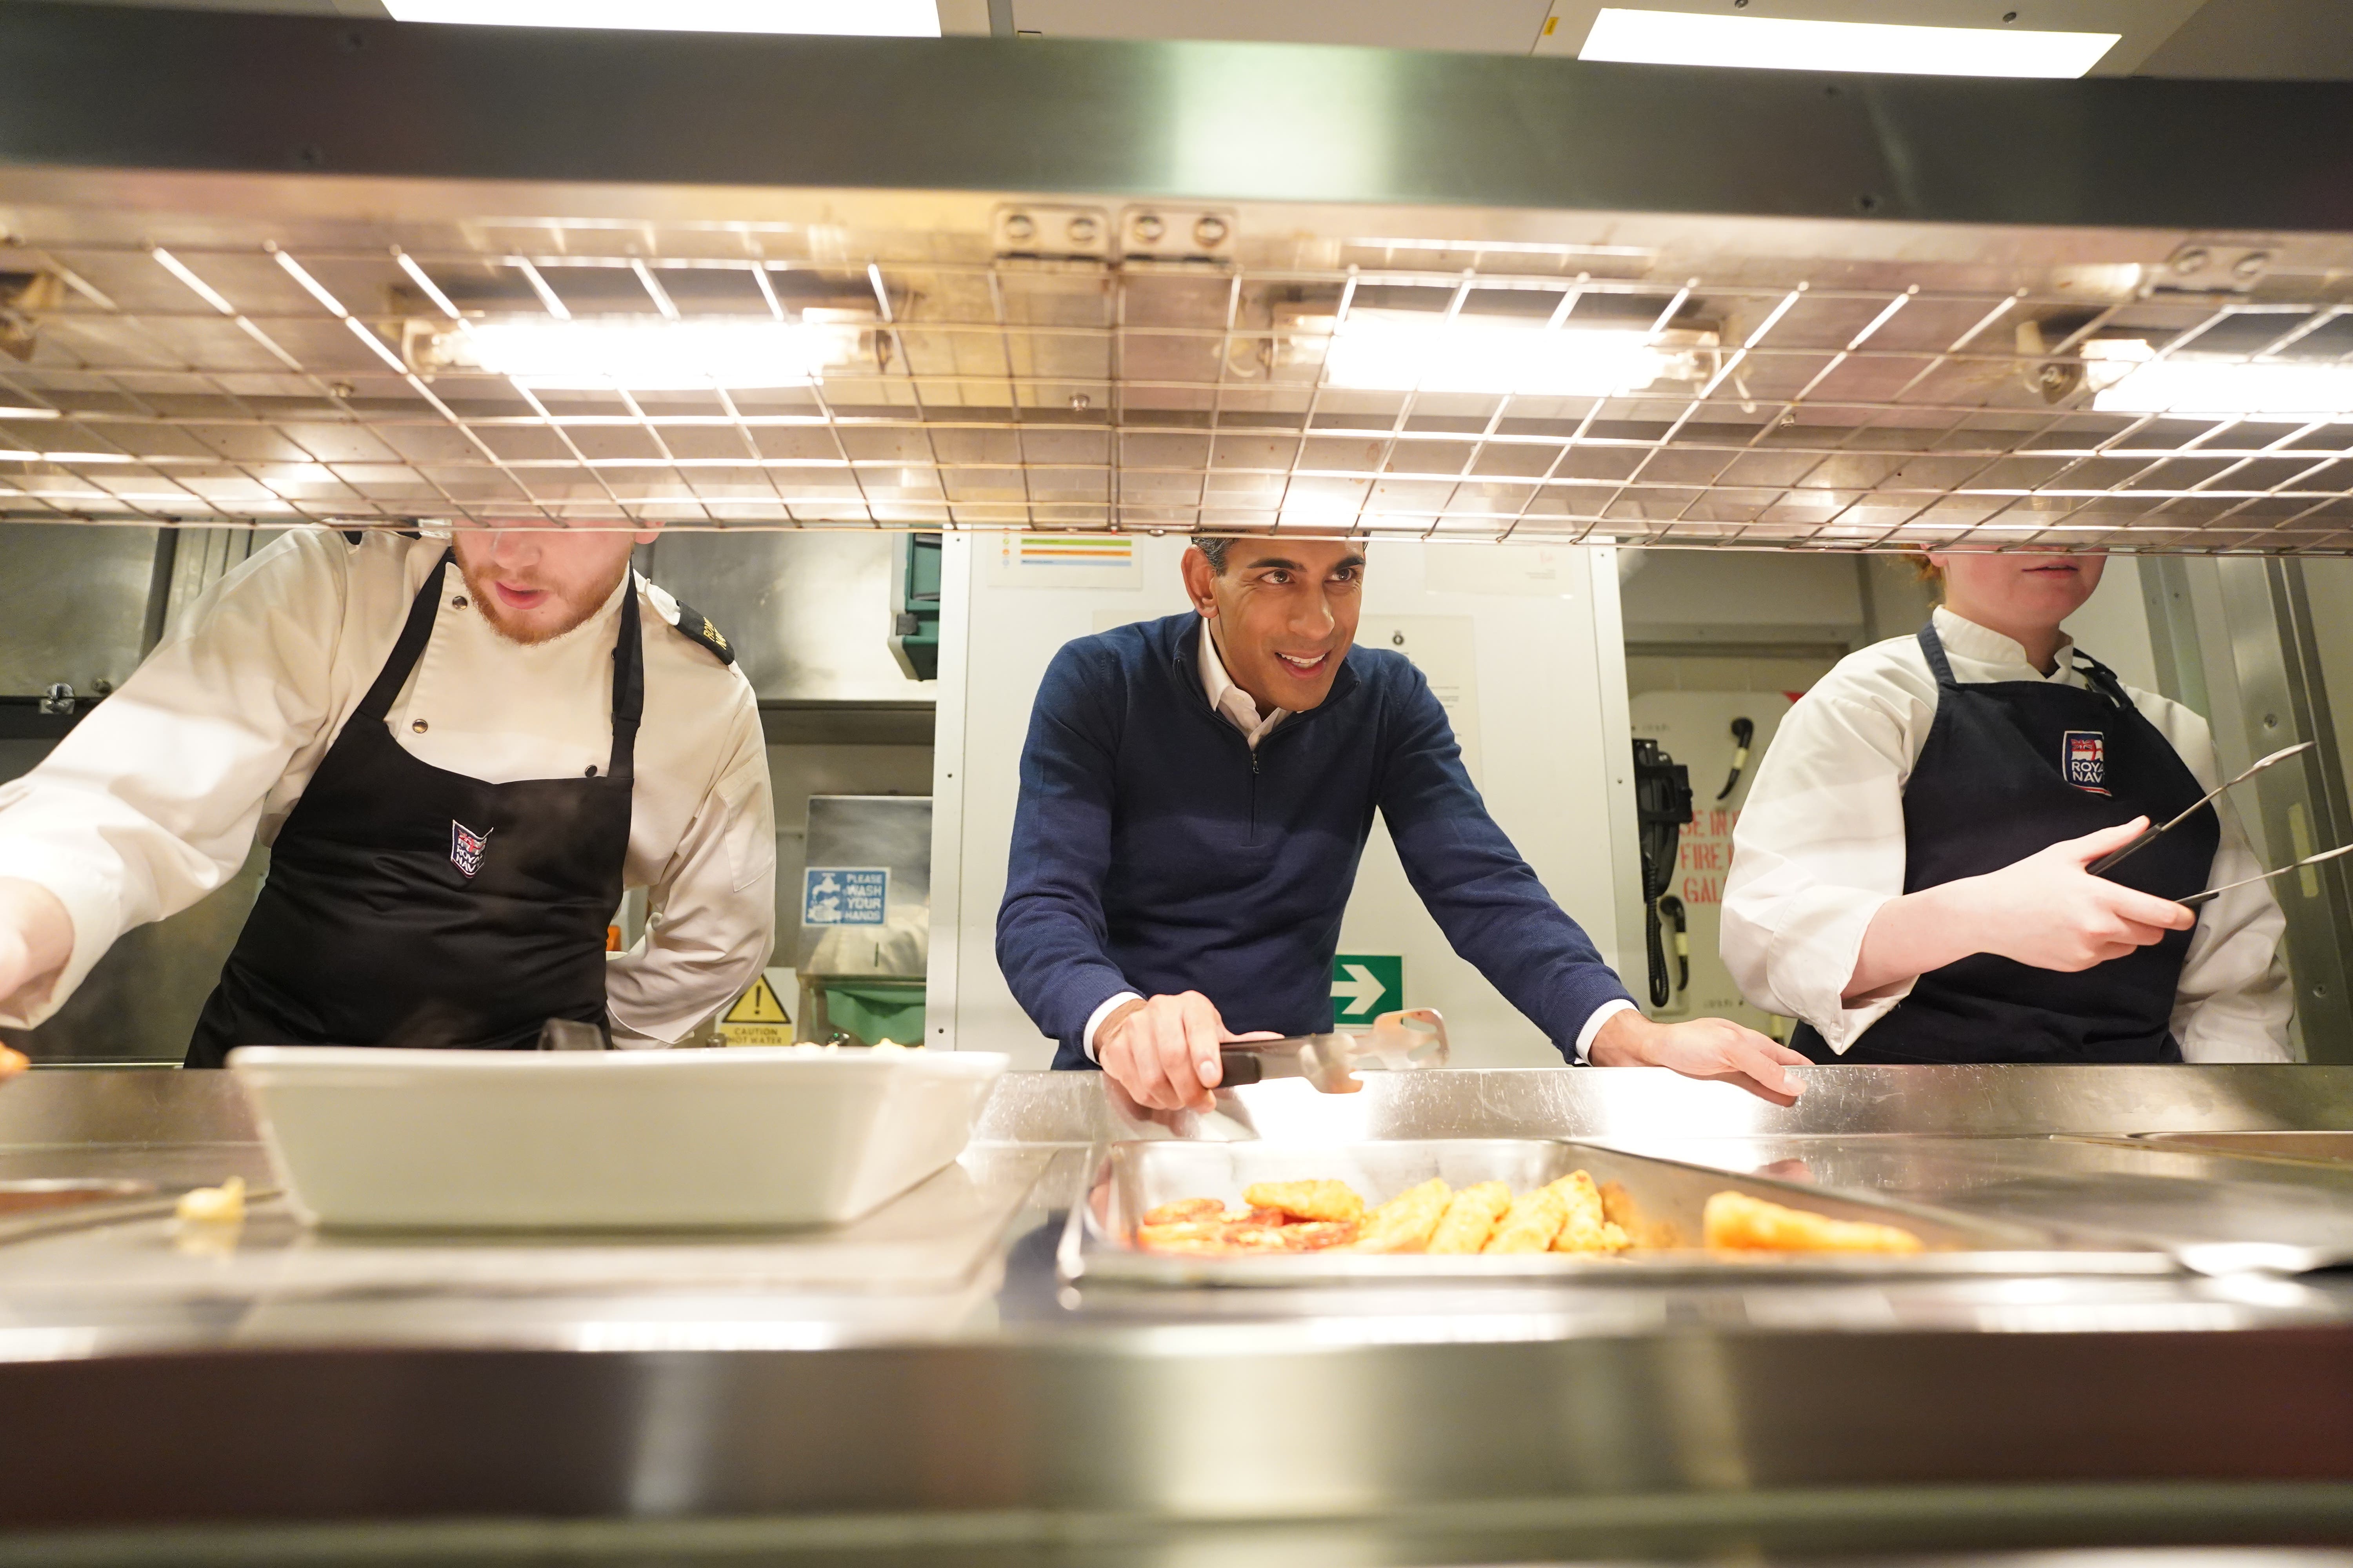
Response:
[[[856,357],[856,327],[704,317],[666,322],[471,322],[440,336],[449,364],[473,364],[541,388],[635,393],[713,386],[807,386]]]

